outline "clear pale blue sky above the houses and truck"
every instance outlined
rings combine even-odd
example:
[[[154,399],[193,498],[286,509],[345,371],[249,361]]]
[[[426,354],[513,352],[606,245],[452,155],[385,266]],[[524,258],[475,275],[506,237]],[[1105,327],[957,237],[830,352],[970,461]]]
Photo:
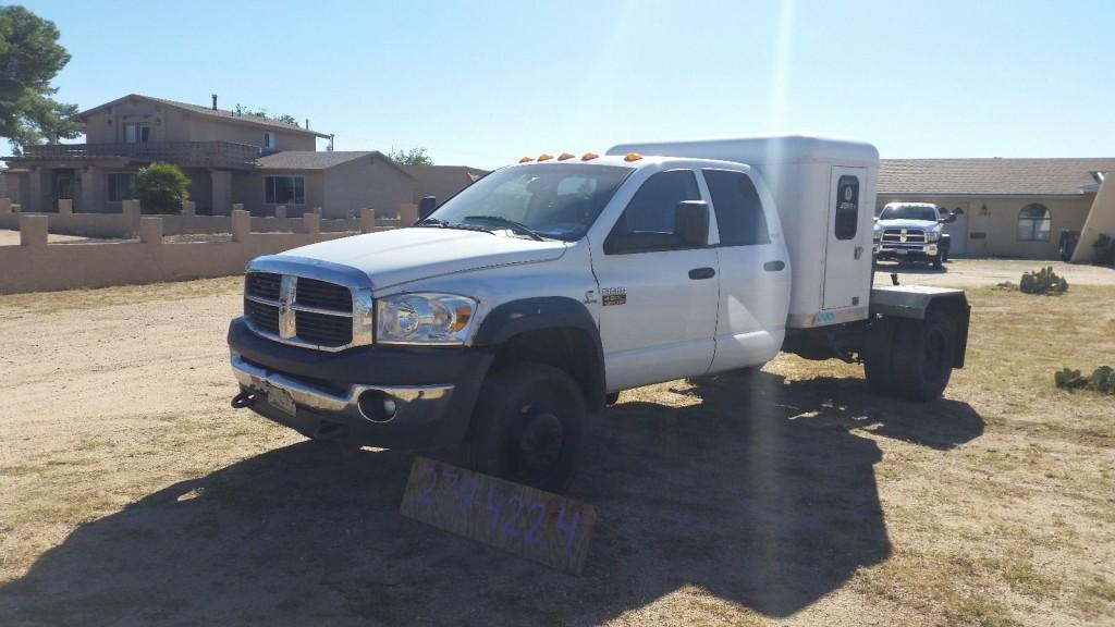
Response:
[[[884,157],[1115,156],[1115,2],[30,1],[58,96],[310,118],[337,149],[541,152],[809,131]]]

